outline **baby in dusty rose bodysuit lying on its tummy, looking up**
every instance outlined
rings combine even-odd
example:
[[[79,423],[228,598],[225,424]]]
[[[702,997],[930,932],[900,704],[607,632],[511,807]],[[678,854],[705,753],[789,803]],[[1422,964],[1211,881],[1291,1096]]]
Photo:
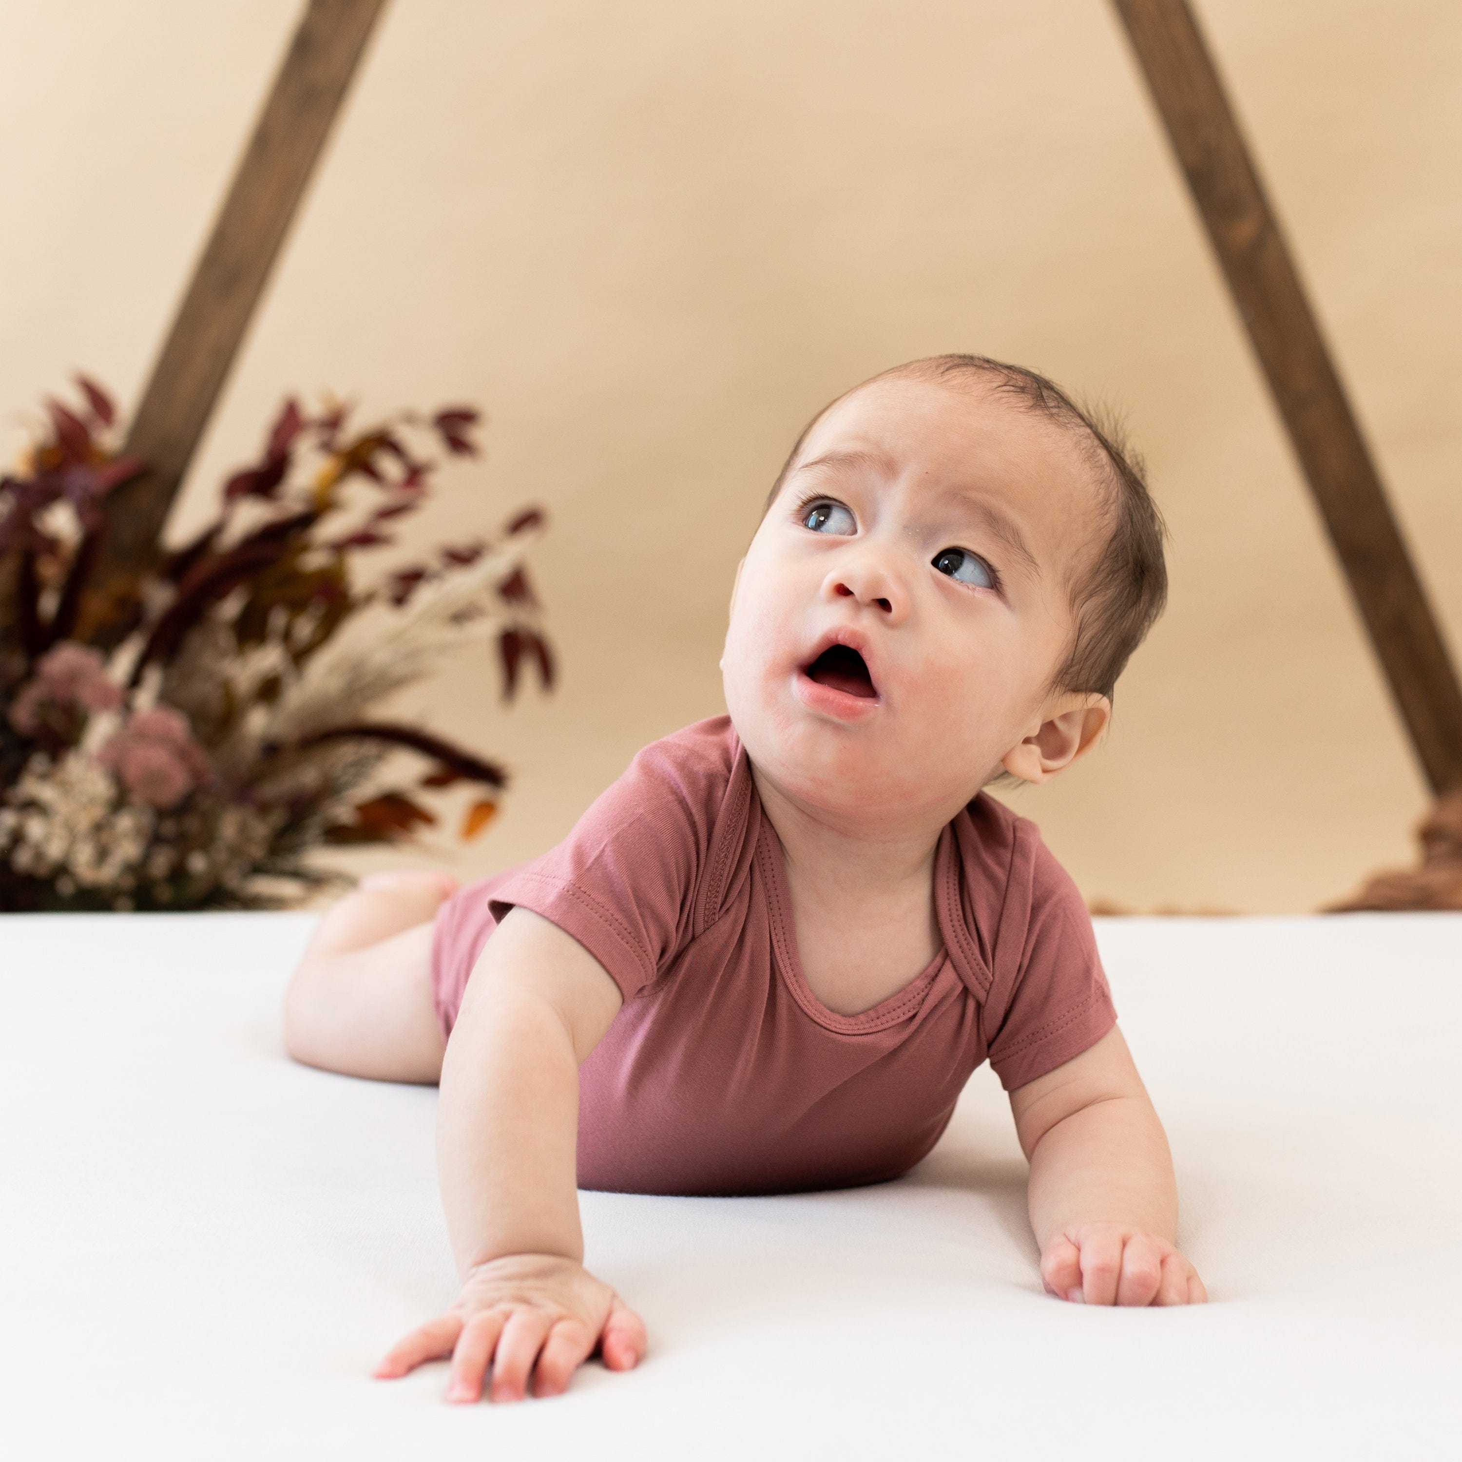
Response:
[[[1137,471],[1032,371],[914,361],[813,420],[737,570],[730,715],[640,751],[534,863],[364,880],[289,984],[297,1060],[442,1088],[462,1292],[377,1376],[450,1355],[450,1401],[490,1364],[509,1401],[635,1366],[577,1186],[883,1183],[987,1057],[1045,1289],[1206,1298],[1086,908],[982,791],[1096,741],[1165,585]]]

